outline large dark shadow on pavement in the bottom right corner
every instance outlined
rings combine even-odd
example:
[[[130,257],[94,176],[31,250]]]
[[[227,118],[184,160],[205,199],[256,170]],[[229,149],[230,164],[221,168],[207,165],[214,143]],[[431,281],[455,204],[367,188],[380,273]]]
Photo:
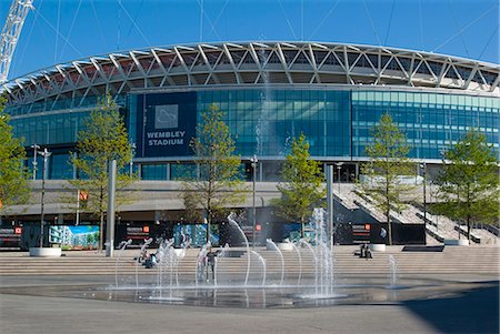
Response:
[[[499,282],[487,285],[402,305],[442,333],[499,333]]]

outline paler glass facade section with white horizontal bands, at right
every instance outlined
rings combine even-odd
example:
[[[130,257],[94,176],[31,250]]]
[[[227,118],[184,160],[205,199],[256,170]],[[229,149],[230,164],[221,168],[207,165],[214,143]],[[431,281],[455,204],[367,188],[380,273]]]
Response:
[[[470,95],[414,92],[352,92],[353,158],[364,156],[371,129],[389,112],[406,132],[410,158],[441,159],[442,152],[471,126],[479,128],[493,144],[500,142],[500,100]]]

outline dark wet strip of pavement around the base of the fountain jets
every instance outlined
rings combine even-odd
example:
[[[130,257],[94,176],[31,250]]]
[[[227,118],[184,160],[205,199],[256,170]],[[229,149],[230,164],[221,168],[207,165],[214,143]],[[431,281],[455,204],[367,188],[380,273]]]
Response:
[[[158,286],[113,284],[62,284],[3,287],[0,293],[32,296],[70,297],[128,303],[239,307],[300,308],[334,305],[387,305],[411,301],[453,297],[474,289],[498,286],[498,282],[452,282],[406,279],[389,285],[383,279],[344,280],[332,291],[322,292],[313,285],[283,286]]]

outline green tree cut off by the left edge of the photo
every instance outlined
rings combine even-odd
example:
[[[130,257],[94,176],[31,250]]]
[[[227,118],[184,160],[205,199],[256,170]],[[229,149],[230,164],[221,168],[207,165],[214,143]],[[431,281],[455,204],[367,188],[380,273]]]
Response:
[[[30,193],[24,168],[22,142],[12,136],[10,118],[3,112],[4,98],[0,95],[0,213],[8,205],[22,204]]]

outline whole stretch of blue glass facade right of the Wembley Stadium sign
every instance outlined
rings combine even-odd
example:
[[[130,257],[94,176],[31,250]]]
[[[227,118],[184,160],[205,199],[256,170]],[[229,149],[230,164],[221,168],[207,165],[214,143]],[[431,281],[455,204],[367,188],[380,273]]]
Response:
[[[198,93],[198,113],[216,103],[242,156],[277,158],[292,136],[304,133],[311,155],[320,160],[366,158],[371,130],[389,112],[406,132],[410,158],[441,159],[442,151],[479,128],[500,142],[500,99],[427,92],[260,90]]]

